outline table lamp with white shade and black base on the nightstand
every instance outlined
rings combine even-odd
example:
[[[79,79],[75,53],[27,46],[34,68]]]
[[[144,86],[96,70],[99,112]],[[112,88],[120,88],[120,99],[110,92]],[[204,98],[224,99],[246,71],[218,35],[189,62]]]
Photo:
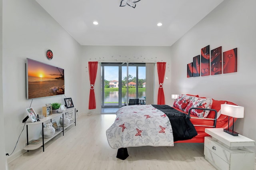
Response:
[[[233,136],[238,136],[238,132],[234,132],[234,118],[243,118],[244,117],[244,107],[242,106],[235,106],[235,105],[227,105],[222,104],[220,105],[220,113],[222,115],[228,116],[228,128],[224,128],[224,132],[231,134]],[[233,126],[232,130],[229,129],[229,117],[233,117]]]

